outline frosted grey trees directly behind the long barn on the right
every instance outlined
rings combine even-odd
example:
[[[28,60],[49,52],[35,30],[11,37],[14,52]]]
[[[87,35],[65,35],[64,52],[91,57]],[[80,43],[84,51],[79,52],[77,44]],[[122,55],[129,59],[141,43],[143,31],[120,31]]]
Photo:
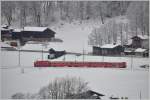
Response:
[[[89,44],[99,46],[107,43],[124,44],[128,40],[128,35],[131,35],[129,30],[129,21],[125,16],[108,19],[99,28],[93,29],[89,35]]]

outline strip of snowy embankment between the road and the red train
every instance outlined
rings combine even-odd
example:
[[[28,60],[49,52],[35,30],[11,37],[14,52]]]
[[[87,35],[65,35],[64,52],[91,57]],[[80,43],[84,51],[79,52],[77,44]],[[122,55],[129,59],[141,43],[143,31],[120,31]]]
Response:
[[[20,61],[19,61],[19,52],[18,51],[1,51],[1,66],[4,68],[13,68],[13,67],[33,67],[34,62],[37,60],[48,60],[48,53],[42,52],[20,52]],[[74,55],[66,54],[54,59],[51,61],[99,61],[99,62],[126,62],[127,69],[140,69],[141,65],[148,65],[149,58],[142,57],[110,57],[110,56],[90,56],[90,55]],[[9,60],[9,63],[8,63]],[[20,65],[19,65],[20,62]]]

